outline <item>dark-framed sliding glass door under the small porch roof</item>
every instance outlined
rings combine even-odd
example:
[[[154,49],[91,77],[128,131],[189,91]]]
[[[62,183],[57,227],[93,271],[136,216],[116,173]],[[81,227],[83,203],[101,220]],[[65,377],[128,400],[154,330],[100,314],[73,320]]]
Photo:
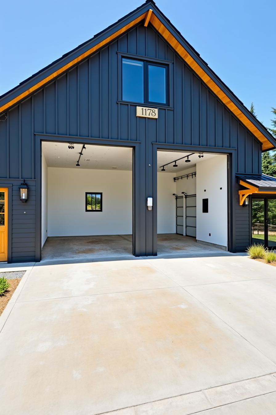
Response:
[[[276,198],[252,198],[252,244],[276,249]]]

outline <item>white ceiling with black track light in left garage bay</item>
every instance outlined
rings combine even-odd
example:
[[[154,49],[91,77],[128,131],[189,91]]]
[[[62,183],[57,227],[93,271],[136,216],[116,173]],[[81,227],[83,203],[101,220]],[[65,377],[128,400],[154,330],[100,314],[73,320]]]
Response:
[[[101,170],[132,170],[132,149],[127,147],[93,146],[86,144],[86,150],[79,160],[82,144],[74,144],[74,149],[68,148],[69,143],[43,142],[42,152],[48,167],[91,168]],[[117,167],[114,168],[113,167]]]

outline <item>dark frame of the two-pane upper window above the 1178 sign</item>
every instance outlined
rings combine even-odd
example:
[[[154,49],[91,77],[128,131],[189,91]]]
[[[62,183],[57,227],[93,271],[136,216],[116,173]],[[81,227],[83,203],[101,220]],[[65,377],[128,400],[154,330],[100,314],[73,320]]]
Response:
[[[148,59],[145,56],[136,56],[136,55],[128,55],[128,54],[120,54],[118,53],[118,61],[120,61],[120,65],[118,65],[118,74],[119,74],[119,79],[120,79],[120,83],[118,83],[118,85],[120,85],[120,87],[118,87],[119,89],[119,100],[121,100],[122,102],[128,103],[130,101],[125,101],[122,98],[122,59],[130,59],[130,60],[136,60],[136,61],[142,61],[143,62],[143,66],[144,66],[144,102],[137,102],[137,104],[142,104],[142,105],[158,105],[158,106],[163,106],[163,107],[169,107],[170,103],[170,94],[169,94],[169,73],[170,73],[170,61],[161,61],[158,59]],[[165,68],[165,77],[166,77],[166,103],[158,103],[158,102],[154,102],[154,101],[149,101],[149,70],[148,67],[149,65],[151,66],[159,66],[161,68]]]

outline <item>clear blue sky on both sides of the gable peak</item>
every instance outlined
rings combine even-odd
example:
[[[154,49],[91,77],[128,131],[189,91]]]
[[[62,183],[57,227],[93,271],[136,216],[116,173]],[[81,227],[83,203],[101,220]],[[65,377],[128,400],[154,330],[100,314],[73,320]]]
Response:
[[[13,0],[1,7],[0,95],[142,4]],[[270,127],[276,107],[275,0],[157,0],[226,85]]]

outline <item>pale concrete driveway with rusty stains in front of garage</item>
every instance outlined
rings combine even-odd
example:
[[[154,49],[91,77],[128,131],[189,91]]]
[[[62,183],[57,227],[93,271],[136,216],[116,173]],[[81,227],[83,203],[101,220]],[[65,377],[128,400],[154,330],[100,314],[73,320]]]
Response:
[[[275,298],[227,253],[36,264],[0,318],[1,413],[275,414]]]

